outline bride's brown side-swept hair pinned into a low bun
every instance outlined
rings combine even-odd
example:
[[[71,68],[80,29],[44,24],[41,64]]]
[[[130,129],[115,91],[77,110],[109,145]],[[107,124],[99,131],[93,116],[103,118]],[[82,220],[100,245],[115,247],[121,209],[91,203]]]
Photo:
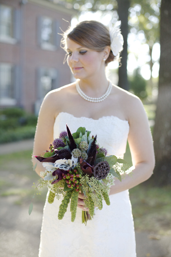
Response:
[[[67,38],[94,51],[102,52],[106,46],[111,45],[109,30],[98,21],[82,21],[73,29],[67,29],[61,40],[61,47],[66,51]],[[63,45],[63,46],[62,46]],[[105,61],[105,65],[115,59],[112,51]]]

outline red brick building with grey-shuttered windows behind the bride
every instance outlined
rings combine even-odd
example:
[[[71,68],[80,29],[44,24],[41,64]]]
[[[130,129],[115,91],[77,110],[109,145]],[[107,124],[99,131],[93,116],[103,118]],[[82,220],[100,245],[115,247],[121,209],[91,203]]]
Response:
[[[0,0],[0,107],[37,114],[46,93],[70,83],[58,33],[74,14],[46,0]]]

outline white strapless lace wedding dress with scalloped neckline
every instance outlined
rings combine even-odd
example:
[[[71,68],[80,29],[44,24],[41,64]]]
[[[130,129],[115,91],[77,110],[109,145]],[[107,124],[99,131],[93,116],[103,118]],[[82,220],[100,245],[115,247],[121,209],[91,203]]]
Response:
[[[59,113],[54,123],[54,138],[58,138],[66,123],[71,132],[85,127],[97,142],[108,150],[108,155],[123,157],[129,133],[128,121],[114,116],[98,120],[76,118]],[[122,183],[122,182],[121,182]],[[103,209],[96,210],[87,225],[82,224],[82,210],[77,208],[76,219],[71,222],[70,206],[62,220],[58,220],[60,200],[44,206],[39,257],[136,257],[135,232],[129,192],[110,195],[110,206],[103,201]]]

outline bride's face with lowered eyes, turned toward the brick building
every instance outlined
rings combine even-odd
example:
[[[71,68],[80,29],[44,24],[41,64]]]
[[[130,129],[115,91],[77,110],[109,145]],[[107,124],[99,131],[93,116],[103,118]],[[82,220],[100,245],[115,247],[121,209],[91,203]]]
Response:
[[[105,69],[103,52],[83,47],[67,39],[67,63],[76,79],[86,79],[101,73]]]

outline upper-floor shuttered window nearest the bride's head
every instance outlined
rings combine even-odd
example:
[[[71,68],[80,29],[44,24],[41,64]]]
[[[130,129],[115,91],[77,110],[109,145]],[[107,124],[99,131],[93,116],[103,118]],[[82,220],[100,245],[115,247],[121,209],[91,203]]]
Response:
[[[56,50],[60,43],[57,29],[58,23],[51,18],[38,18],[38,43],[42,49]]]

